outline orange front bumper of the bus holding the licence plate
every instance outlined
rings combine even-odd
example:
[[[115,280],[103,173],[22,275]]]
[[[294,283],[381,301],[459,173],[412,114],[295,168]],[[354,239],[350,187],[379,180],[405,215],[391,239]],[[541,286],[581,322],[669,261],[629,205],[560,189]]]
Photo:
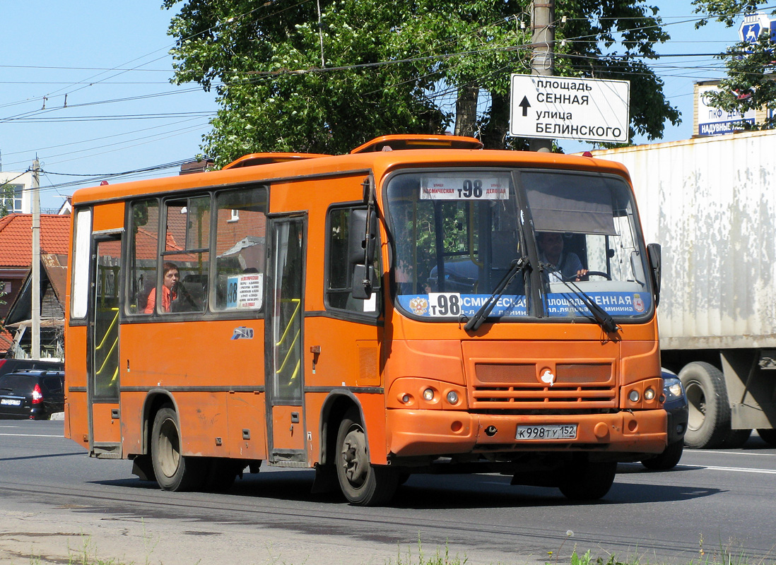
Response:
[[[387,449],[394,456],[513,451],[662,453],[663,409],[585,415],[490,415],[448,410],[389,410]]]

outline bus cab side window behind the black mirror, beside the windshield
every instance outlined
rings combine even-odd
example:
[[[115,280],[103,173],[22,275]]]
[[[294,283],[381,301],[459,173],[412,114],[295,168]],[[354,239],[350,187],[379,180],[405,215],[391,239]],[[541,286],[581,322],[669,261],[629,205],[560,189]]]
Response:
[[[353,269],[348,262],[348,220],[354,208],[331,208],[327,221],[327,308],[351,312],[380,312],[380,284],[382,270],[379,268],[379,242],[375,246],[375,281],[372,281],[372,298],[357,300],[352,297]]]

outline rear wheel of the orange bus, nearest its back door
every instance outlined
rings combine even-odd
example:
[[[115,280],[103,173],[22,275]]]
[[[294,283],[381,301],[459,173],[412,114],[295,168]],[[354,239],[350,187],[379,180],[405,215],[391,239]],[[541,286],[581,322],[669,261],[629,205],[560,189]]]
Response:
[[[151,460],[156,482],[163,491],[190,491],[205,478],[203,460],[181,455],[178,414],[169,406],[162,407],[154,418]]]

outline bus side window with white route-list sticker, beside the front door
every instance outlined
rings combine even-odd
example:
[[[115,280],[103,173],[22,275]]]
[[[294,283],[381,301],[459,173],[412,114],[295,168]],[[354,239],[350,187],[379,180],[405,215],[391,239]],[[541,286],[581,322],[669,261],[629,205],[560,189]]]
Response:
[[[267,249],[267,189],[262,186],[219,192],[216,213],[213,310],[260,310]]]

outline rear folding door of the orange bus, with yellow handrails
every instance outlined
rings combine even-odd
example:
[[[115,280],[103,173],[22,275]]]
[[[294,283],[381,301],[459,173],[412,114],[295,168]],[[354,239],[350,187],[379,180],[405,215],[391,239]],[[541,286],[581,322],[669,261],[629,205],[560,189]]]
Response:
[[[119,409],[120,235],[95,237],[88,332],[89,451],[121,457]]]

